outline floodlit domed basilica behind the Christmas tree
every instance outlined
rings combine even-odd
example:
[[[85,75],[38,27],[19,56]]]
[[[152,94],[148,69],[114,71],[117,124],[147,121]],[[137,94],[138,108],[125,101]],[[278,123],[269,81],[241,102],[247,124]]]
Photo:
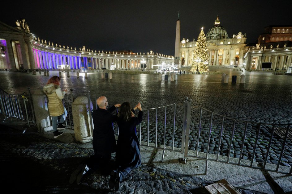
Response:
[[[209,55],[209,66],[211,65],[237,65],[243,66],[245,54],[246,35],[238,32],[228,37],[227,31],[220,25],[219,17],[214,26],[206,34],[207,49]],[[180,67],[191,67],[196,41],[183,38],[179,45]]]

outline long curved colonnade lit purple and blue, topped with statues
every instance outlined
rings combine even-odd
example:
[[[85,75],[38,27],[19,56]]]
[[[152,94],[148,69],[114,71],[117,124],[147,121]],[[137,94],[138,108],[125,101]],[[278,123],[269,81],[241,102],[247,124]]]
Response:
[[[22,22],[22,23],[21,23]],[[57,45],[34,37],[24,19],[17,27],[0,22],[0,69],[156,69],[157,64],[173,64],[174,57],[147,53],[93,51]]]

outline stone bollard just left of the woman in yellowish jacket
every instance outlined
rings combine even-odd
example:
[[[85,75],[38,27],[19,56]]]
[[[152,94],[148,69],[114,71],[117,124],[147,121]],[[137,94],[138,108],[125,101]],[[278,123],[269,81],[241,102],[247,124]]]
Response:
[[[36,116],[36,125],[39,132],[53,130],[51,126],[48,98],[42,88],[37,88],[32,94],[32,104]]]

